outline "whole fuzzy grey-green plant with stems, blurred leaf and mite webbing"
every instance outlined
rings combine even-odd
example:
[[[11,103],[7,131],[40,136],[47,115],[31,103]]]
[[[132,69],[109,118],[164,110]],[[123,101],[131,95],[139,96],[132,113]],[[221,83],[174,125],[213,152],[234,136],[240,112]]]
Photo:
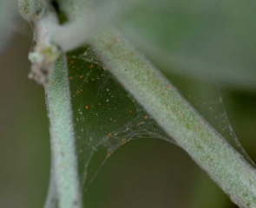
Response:
[[[244,41],[255,33],[253,4],[18,0],[34,32],[29,77],[43,85],[48,109],[52,159],[45,208],[84,207],[83,190],[95,176],[88,172],[92,155],[103,149],[105,161],[143,136],[180,146],[234,204],[256,207],[253,161],[166,77],[172,70],[207,81],[216,72],[220,85],[254,90],[255,42]]]

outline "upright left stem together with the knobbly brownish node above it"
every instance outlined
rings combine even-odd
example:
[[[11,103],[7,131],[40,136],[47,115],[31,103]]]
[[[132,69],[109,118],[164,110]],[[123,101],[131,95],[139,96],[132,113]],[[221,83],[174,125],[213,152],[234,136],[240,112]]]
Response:
[[[82,208],[67,61],[65,55],[59,56],[59,52],[52,50],[53,46],[49,43],[49,34],[58,27],[57,17],[53,10],[48,7],[46,1],[42,4],[36,4],[36,0],[23,0],[19,3],[22,5],[20,7],[22,14],[32,10],[34,12],[42,10],[42,13],[38,15],[30,14],[29,21],[35,24],[36,49],[38,49],[33,53],[32,68],[35,69],[35,72],[36,70],[43,70],[43,75],[46,69],[49,71],[49,82],[44,83],[52,153],[51,171],[53,172],[49,192],[56,192],[57,204],[60,208]],[[34,8],[35,5],[43,6],[43,8]],[[23,16],[27,16],[27,13]],[[42,49],[47,50],[42,52]],[[56,57],[58,57],[57,60]],[[54,62],[55,60],[56,62]],[[39,78],[41,75],[38,75]],[[50,201],[51,198],[53,196],[49,193],[45,204],[46,207],[48,206],[47,208],[56,205],[55,202]]]

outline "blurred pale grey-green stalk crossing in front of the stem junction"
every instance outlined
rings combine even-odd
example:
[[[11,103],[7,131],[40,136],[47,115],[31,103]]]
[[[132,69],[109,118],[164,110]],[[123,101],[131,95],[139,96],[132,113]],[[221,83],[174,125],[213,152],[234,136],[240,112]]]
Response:
[[[53,31],[50,35],[51,41],[66,52],[76,49],[82,44],[91,42],[102,28],[112,22],[118,22],[120,16],[124,15],[136,2],[136,0],[110,0],[94,9],[84,8],[82,12],[77,10],[77,14],[81,14],[79,18],[74,18]]]

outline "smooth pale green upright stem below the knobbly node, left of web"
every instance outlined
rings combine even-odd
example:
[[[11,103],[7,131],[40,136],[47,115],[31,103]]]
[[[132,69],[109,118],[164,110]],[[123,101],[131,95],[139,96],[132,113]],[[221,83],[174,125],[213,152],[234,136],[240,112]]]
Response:
[[[56,61],[45,91],[59,207],[81,208],[82,198],[75,155],[68,68],[64,55]]]

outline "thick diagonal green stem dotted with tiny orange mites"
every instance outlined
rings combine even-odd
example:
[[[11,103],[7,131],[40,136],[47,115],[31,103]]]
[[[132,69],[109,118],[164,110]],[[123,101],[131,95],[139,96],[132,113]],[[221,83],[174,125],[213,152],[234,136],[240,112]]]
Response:
[[[93,42],[115,75],[161,127],[240,207],[256,207],[256,172],[153,64],[113,29]]]

